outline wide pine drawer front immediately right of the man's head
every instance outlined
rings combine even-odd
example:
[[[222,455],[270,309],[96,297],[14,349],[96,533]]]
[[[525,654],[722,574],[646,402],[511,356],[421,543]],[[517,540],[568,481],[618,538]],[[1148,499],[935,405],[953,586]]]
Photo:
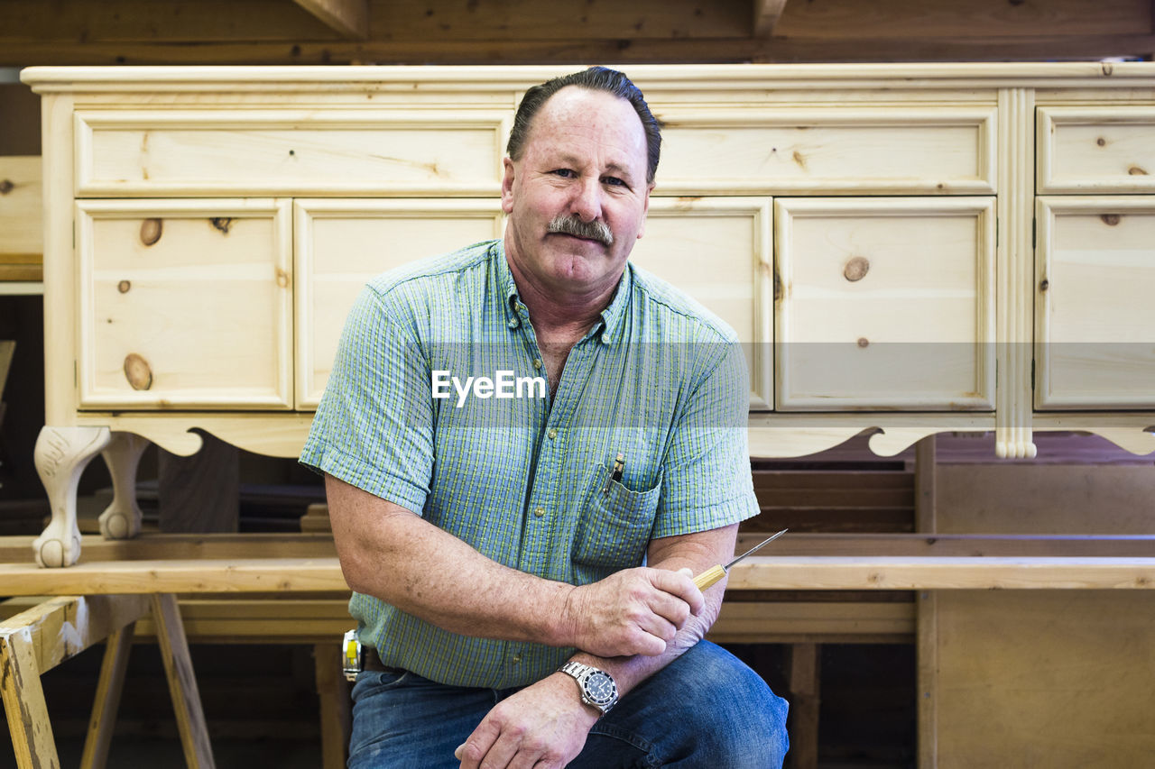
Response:
[[[992,107],[656,113],[663,194],[994,192]]]

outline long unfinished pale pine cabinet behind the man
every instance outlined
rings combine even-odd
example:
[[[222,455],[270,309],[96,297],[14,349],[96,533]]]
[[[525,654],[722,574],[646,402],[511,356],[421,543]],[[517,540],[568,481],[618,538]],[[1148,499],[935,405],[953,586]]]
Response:
[[[500,234],[514,109],[567,70],[25,70],[47,471],[116,463],[120,434],[188,454],[192,428],[297,455],[358,288]],[[864,430],[880,454],[991,430],[1003,456],[1033,455],[1035,430],[1155,450],[1155,66],[628,74],[665,126],[633,257],[746,345],[754,455]],[[1072,359],[1100,331],[1135,344]],[[72,562],[53,525],[37,552]]]

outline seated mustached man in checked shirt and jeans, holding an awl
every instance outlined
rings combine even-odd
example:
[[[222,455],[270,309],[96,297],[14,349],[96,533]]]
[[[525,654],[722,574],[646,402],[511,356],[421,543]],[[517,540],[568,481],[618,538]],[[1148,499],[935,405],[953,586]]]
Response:
[[[787,705],[701,640],[723,585],[691,580],[758,513],[744,360],[626,261],[660,142],[621,73],[530,89],[505,237],[377,278],[350,314],[301,462],[374,649],[355,769],[782,763]],[[549,391],[502,398],[502,371]]]

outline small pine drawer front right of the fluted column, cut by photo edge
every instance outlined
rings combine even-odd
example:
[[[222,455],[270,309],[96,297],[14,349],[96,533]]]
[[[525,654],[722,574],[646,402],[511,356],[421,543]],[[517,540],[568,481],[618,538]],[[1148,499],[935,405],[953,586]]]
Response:
[[[1040,193],[1155,191],[1155,106],[1040,107]]]

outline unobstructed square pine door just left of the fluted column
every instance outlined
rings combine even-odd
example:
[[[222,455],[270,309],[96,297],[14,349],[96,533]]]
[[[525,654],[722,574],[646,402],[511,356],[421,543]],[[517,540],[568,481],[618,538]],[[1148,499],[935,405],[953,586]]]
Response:
[[[994,199],[778,199],[783,410],[993,410]]]

